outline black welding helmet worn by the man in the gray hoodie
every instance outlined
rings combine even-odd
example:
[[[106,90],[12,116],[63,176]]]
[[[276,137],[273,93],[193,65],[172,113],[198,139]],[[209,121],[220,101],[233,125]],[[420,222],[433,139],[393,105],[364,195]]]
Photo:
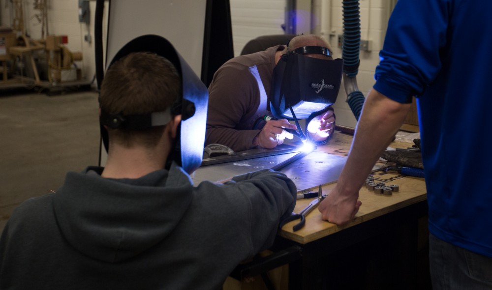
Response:
[[[139,36],[118,51],[108,68],[120,58],[134,52],[151,52],[167,58],[176,67],[183,84],[182,95],[164,112],[148,115],[122,116],[101,112],[101,136],[106,151],[108,150],[108,132],[104,126],[111,128],[140,130],[166,124],[172,116],[182,115],[173,148],[167,158],[166,168],[174,161],[187,173],[195,171],[202,162],[207,123],[208,91],[183,57],[173,45],[158,35]],[[138,97],[138,96],[135,96]]]

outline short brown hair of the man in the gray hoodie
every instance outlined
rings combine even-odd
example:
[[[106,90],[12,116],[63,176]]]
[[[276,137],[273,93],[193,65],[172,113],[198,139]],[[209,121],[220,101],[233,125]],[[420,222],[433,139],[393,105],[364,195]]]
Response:
[[[99,94],[101,110],[110,114],[142,115],[161,112],[181,94],[181,78],[174,65],[154,53],[137,52],[117,60],[104,76]],[[110,143],[152,146],[163,126],[146,130],[109,129]],[[143,142],[143,143],[142,143]]]

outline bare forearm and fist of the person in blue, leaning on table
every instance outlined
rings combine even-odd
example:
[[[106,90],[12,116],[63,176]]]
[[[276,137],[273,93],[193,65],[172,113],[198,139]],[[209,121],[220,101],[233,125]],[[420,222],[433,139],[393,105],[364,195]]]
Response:
[[[359,190],[374,163],[405,119],[409,104],[400,104],[376,90],[369,93],[357,125],[347,163],[337,185],[319,204],[324,220],[337,225],[351,221],[362,203]]]

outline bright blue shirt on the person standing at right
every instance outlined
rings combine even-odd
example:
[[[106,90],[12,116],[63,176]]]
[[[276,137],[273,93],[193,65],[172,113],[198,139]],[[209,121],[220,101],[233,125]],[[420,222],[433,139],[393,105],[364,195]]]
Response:
[[[492,1],[399,0],[374,88],[416,96],[438,238],[492,257]]]

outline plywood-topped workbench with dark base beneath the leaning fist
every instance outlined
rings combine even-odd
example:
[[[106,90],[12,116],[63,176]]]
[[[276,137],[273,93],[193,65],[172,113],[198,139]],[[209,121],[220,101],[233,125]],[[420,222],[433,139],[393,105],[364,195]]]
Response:
[[[336,132],[318,150],[346,156],[351,140],[351,135]],[[292,231],[297,221],[279,230],[271,256],[239,265],[231,277],[244,281],[288,263],[289,289],[430,289],[425,180],[395,172],[374,177],[398,184],[399,192],[384,196],[362,188],[355,220],[342,227],[322,221],[313,210],[301,230]],[[323,185],[323,193],[334,186]],[[310,201],[298,200],[294,212]]]

